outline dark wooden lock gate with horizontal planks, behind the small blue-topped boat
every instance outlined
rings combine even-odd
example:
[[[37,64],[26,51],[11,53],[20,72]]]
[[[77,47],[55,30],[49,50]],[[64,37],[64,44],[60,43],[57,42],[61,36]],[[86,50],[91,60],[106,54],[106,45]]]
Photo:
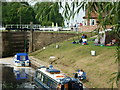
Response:
[[[28,48],[26,32],[2,32],[2,57],[25,52]]]

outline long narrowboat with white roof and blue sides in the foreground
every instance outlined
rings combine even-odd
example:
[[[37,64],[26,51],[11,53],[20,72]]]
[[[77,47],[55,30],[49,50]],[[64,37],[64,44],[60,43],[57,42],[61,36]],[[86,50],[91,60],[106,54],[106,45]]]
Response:
[[[83,90],[83,84],[79,79],[68,77],[51,66],[38,68],[34,82],[40,90]]]

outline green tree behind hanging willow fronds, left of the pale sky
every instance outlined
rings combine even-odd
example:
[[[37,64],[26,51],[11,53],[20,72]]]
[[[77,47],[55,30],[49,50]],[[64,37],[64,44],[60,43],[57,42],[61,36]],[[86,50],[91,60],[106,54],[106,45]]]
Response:
[[[64,19],[59,13],[58,3],[41,2],[36,3],[34,6],[36,12],[36,19],[38,19],[42,26],[51,26],[52,22],[58,23],[62,26]]]

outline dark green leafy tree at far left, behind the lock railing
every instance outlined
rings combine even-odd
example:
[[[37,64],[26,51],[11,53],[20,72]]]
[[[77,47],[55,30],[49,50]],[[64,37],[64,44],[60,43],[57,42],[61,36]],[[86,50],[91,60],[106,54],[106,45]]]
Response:
[[[3,2],[2,6],[3,25],[38,23],[33,8],[26,2]]]

